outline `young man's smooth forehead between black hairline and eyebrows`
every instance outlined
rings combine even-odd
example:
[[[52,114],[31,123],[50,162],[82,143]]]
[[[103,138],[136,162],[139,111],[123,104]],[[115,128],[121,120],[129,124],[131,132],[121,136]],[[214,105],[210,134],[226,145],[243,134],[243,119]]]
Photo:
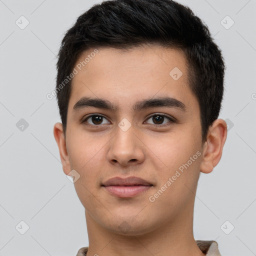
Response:
[[[155,45],[129,50],[91,48],[80,54],[74,68],[77,74],[72,80],[70,107],[82,96],[107,98],[125,107],[138,98],[153,96],[194,99],[180,49]]]

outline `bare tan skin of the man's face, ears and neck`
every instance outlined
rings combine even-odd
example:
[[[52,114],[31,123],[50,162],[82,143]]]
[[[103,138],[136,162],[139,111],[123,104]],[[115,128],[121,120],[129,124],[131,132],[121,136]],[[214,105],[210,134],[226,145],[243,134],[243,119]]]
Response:
[[[73,78],[66,134],[61,123],[53,131],[64,173],[71,175],[75,169],[80,175],[74,186],[85,208],[87,255],[204,255],[193,237],[195,192],[199,173],[211,172],[221,158],[225,121],[216,119],[207,141],[202,141],[199,105],[188,86],[186,59],[180,50],[157,45],[129,51],[98,49]],[[92,51],[84,51],[77,63]],[[169,75],[174,67],[182,71],[177,80]],[[118,111],[93,106],[73,111],[83,96],[107,99]],[[159,106],[133,112],[136,101],[164,96],[182,101],[186,111]],[[162,123],[167,125],[161,127],[152,117],[155,113],[177,121],[165,117]],[[93,118],[82,123],[90,114],[103,115],[102,124]],[[118,126],[123,118],[131,123],[126,131]],[[150,202],[149,196],[197,151],[197,159]],[[130,198],[116,197],[101,186],[115,176],[137,176],[153,186]]]

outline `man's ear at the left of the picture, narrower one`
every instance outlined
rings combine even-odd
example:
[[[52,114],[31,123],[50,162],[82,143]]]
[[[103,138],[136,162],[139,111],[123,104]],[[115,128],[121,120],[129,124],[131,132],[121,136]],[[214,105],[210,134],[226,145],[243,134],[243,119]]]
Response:
[[[71,169],[70,169],[70,163],[69,163],[68,153],[66,149],[66,141],[65,141],[62,123],[60,122],[55,123],[53,127],[53,134],[58,145],[58,150],[59,150],[63,171],[67,175]]]

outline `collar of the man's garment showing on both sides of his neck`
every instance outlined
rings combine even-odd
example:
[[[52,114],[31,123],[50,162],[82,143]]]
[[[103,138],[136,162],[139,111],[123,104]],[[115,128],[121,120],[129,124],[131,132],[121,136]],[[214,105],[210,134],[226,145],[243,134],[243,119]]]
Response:
[[[195,240],[197,246],[206,256],[221,256],[218,250],[218,244],[216,241],[206,241],[206,240]],[[78,250],[76,256],[86,256],[88,247],[82,247]]]

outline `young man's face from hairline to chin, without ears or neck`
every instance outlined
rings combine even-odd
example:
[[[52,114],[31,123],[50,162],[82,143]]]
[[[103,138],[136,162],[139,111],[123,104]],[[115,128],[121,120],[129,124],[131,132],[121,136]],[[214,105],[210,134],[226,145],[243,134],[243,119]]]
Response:
[[[74,186],[93,221],[142,234],[192,209],[203,150],[199,105],[180,50],[98,50],[76,63],[93,55],[72,80],[63,169],[80,175]],[[150,185],[102,185],[130,176]]]

